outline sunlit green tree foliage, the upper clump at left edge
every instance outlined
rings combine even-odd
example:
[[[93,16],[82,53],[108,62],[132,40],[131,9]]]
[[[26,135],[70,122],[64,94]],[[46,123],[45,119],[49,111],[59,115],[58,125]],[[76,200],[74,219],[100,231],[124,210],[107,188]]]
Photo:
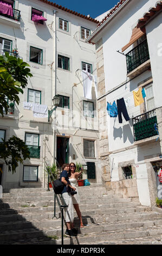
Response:
[[[7,114],[9,108],[5,99],[15,101],[17,105],[20,103],[18,94],[23,94],[23,89],[28,84],[28,77],[33,76],[28,66],[29,64],[23,62],[22,59],[9,56],[8,52],[5,56],[0,56],[0,113],[2,117],[4,109]]]

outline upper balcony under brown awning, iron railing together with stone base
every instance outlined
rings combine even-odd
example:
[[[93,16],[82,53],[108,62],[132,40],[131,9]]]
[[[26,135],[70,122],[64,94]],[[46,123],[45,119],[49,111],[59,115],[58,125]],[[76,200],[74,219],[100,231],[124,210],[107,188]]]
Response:
[[[126,54],[127,76],[133,78],[150,68],[147,39]]]

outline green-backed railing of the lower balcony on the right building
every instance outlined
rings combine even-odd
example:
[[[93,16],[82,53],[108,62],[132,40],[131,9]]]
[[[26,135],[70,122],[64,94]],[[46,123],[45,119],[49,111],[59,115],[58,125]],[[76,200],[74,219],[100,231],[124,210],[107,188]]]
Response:
[[[138,115],[133,120],[134,141],[158,135],[158,124],[155,109]]]

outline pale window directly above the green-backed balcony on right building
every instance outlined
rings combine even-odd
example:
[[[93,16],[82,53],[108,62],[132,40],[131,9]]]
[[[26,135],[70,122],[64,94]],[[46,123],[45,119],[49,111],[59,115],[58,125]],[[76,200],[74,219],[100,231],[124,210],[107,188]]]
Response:
[[[149,84],[144,88],[146,93],[146,97],[145,97],[146,111],[150,111],[155,108],[152,84]]]

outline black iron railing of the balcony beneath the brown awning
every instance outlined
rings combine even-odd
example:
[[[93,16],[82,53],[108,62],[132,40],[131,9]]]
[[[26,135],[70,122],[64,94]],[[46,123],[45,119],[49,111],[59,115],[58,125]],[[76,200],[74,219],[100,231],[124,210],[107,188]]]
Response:
[[[147,39],[126,54],[127,74],[150,59]]]

